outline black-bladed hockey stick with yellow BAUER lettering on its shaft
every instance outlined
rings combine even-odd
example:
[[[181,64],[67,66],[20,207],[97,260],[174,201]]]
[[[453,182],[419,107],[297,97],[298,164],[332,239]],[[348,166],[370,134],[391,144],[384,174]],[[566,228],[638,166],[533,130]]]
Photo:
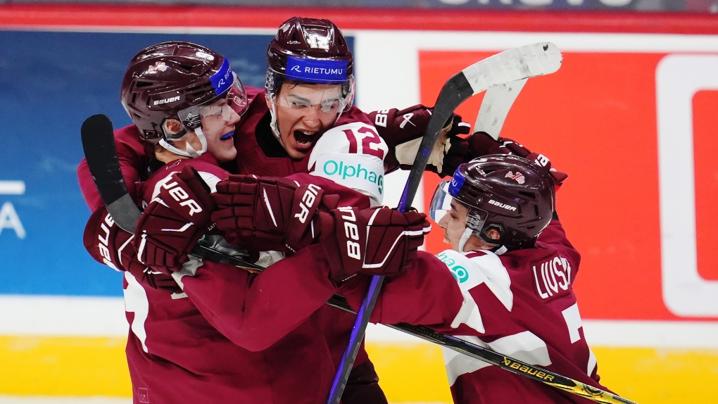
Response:
[[[88,120],[83,123],[82,132],[83,147],[85,148],[85,155],[88,158],[88,166],[90,166],[90,172],[93,173],[93,179],[95,179],[95,184],[98,185],[98,190],[101,192],[101,197],[103,197],[103,201],[106,201],[108,202],[108,205],[113,206],[113,212],[110,212],[113,217],[113,220],[115,220],[118,225],[122,224],[127,228],[136,227],[136,219],[133,221],[133,217],[134,215],[137,215],[136,217],[139,217],[139,210],[137,209],[136,205],[134,205],[134,202],[132,202],[131,197],[127,193],[127,189],[122,179],[122,172],[120,169],[120,165],[117,161],[117,155],[114,146],[112,123],[106,116],[93,116],[88,118]],[[120,202],[118,204],[113,204],[113,202],[116,202],[118,200],[129,201],[130,205],[123,205],[124,203],[128,202]],[[118,205],[121,206],[121,209],[116,208],[116,206]],[[124,229],[125,227],[122,228]],[[210,253],[218,253],[213,252],[213,250],[209,249],[208,251]],[[225,255],[223,253],[218,254]],[[218,256],[220,255],[210,255],[206,259],[217,260]],[[231,255],[225,256],[233,261],[238,261],[240,265],[237,265],[236,262],[228,263],[236,265],[248,271],[261,272],[264,270],[264,268],[261,266],[256,266],[252,263],[246,263],[243,260],[238,260],[232,257]],[[351,309],[351,307],[346,303],[345,299],[342,296],[332,296],[332,299],[330,299],[330,301],[327,301],[327,304],[330,306],[334,306],[337,309],[342,309],[344,311],[349,311],[350,313],[355,314],[355,311]],[[625,400],[610,393],[603,392],[602,390],[595,389],[594,387],[584,385],[581,382],[577,382],[561,375],[556,375],[552,372],[542,370],[539,367],[534,367],[532,365],[528,365],[523,362],[514,360],[513,358],[506,357],[502,354],[498,354],[485,347],[480,347],[475,344],[471,344],[470,342],[463,341],[462,339],[434,332],[432,329],[429,329],[427,327],[413,326],[409,324],[397,324],[390,325],[388,327],[397,329],[406,334],[413,335],[414,337],[419,337],[428,342],[442,345],[443,347],[447,347],[448,349],[452,349],[456,352],[460,352],[470,357],[474,357],[477,360],[491,363],[493,365],[496,365],[497,367],[509,370],[510,372],[515,372],[518,375],[531,377],[534,380],[553,385],[554,387],[561,390],[566,390],[569,393],[581,395],[582,397],[588,398],[589,400],[594,400],[598,403],[633,403],[629,400]],[[543,372],[544,376],[538,377],[537,375],[541,375],[541,373],[539,372]]]

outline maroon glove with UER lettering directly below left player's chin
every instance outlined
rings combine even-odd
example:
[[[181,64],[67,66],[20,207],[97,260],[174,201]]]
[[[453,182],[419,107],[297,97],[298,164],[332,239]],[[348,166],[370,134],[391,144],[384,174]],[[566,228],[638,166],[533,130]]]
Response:
[[[213,227],[215,203],[205,187],[191,166],[164,181],[137,222],[133,243],[142,262],[167,274],[182,269],[197,240]]]

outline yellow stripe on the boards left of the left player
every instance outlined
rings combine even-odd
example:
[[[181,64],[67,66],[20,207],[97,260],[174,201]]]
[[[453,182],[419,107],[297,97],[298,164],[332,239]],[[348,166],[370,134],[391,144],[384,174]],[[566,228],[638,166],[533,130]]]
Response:
[[[0,336],[0,394],[131,397],[126,341]]]

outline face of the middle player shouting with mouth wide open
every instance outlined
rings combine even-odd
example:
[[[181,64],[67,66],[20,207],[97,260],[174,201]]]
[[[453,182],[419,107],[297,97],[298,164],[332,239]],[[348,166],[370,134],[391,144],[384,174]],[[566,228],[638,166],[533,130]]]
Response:
[[[282,83],[274,101],[281,144],[292,159],[309,153],[344,108],[338,84]],[[271,108],[271,105],[269,105]]]

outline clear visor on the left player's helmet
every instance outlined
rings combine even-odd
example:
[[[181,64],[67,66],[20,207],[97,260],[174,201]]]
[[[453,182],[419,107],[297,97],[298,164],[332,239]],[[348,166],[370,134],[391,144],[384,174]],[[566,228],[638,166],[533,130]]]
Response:
[[[247,111],[247,93],[242,82],[234,73],[232,74],[234,81],[227,93],[218,95],[204,105],[194,105],[177,113],[187,131],[194,131],[196,128],[202,127],[202,118],[222,118],[224,121],[231,121],[234,114],[242,116]],[[184,133],[182,136],[180,133],[167,133],[165,130],[164,135],[167,140],[177,140],[184,136]]]

